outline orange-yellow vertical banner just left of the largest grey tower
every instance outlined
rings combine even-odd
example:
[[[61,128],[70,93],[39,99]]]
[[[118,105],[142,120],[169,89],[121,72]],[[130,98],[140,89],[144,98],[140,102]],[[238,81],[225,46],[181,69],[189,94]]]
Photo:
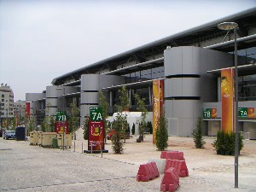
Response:
[[[155,131],[159,126],[160,113],[163,113],[164,105],[164,81],[153,81],[153,143],[155,143]]]

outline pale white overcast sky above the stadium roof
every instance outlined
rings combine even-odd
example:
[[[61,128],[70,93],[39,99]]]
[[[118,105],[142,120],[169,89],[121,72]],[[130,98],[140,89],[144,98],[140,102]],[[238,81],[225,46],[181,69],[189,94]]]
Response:
[[[65,73],[256,7],[256,0],[0,0],[0,83],[41,93]]]

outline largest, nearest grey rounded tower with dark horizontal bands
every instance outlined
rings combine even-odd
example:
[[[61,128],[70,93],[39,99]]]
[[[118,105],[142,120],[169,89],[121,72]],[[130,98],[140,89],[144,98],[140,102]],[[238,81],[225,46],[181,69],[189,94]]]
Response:
[[[191,136],[203,102],[216,102],[216,79],[207,71],[231,66],[232,55],[211,49],[165,50],[165,113],[170,135]]]

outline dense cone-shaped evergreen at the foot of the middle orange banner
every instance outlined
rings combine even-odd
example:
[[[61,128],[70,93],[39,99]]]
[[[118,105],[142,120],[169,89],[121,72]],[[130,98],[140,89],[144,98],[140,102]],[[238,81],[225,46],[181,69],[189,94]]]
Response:
[[[160,151],[163,151],[168,147],[167,119],[163,113],[160,114],[159,127],[155,131],[155,141],[156,148]]]

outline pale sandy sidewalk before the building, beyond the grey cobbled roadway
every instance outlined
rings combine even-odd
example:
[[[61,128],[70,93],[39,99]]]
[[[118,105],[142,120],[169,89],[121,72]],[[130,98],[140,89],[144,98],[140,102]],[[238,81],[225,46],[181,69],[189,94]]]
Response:
[[[107,140],[105,149],[109,153],[102,154],[103,158],[141,165],[150,158],[160,159],[160,151],[152,143],[152,135],[146,135],[143,143],[136,143],[137,137],[126,139],[123,154],[113,154],[112,144]],[[189,177],[180,178],[180,187],[177,191],[255,191],[256,190],[256,141],[244,141],[244,148],[239,156],[239,189],[235,189],[234,156],[217,155],[212,148],[216,137],[205,137],[205,148],[194,147],[191,137],[169,137],[168,150],[182,151],[189,169]],[[83,138],[83,130],[77,133],[75,152],[82,153],[88,149],[87,140]],[[74,146],[69,150],[74,151]],[[93,154],[101,158],[101,154]],[[161,177],[160,177],[161,178]],[[160,178],[159,183],[160,183]]]

